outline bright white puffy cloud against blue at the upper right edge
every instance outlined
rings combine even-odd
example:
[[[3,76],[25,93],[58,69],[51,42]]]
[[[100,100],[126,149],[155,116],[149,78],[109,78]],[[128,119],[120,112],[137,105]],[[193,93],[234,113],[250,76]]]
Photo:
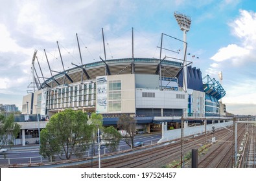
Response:
[[[230,3],[227,1],[226,3]],[[239,43],[231,43],[222,47],[210,59],[220,64],[230,62],[229,66],[244,65],[256,59],[256,13],[239,10],[240,15],[229,23],[232,34]],[[217,68],[217,67],[215,67]]]

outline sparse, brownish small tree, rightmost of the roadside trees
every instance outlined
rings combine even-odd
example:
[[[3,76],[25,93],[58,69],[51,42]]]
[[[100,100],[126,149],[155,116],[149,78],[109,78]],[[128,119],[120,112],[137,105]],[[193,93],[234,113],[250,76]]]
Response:
[[[136,120],[130,116],[122,114],[119,116],[117,127],[124,131],[124,142],[131,148],[134,147],[134,137],[136,132]]]

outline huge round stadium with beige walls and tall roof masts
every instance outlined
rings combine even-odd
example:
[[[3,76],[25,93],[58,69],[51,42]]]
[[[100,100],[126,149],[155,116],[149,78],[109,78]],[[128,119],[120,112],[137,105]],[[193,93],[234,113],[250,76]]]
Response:
[[[161,36],[163,39],[168,35]],[[221,117],[225,116],[226,108],[220,100],[226,92],[222,85],[208,75],[202,77],[201,70],[190,65],[186,59],[186,39],[168,37],[183,43],[180,58],[161,57],[161,51],[167,49],[162,45],[159,58],[134,58],[132,47],[131,58],[106,59],[104,51],[105,59],[84,64],[80,56],[81,65],[73,64],[73,68],[65,70],[62,62],[64,71],[54,75],[47,59],[51,77],[43,78],[43,82],[34,68],[35,50],[34,91],[23,96],[22,114],[16,116],[22,127],[20,142],[25,144],[25,138],[35,142],[38,130],[45,127],[53,114],[64,109],[102,114],[104,126],[116,126],[119,116],[127,114],[137,120],[137,133],[161,131],[163,125],[180,128],[181,116],[187,119],[185,127],[202,124],[202,120],[211,123],[215,117],[223,122]],[[79,42],[78,48],[80,52]]]

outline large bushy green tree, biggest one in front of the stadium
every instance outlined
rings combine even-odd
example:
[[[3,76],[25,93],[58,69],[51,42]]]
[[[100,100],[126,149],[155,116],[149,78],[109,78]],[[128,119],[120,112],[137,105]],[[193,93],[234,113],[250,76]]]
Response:
[[[67,160],[72,154],[80,157],[89,145],[91,133],[86,113],[65,109],[54,114],[41,131],[40,154],[44,158],[57,154],[60,159],[65,154]]]

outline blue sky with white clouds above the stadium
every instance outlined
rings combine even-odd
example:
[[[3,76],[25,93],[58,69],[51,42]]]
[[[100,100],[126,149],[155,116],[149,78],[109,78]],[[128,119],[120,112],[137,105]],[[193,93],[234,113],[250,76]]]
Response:
[[[256,1],[254,0],[0,0],[0,103],[16,104],[21,110],[22,98],[31,90],[31,62],[38,76],[49,78],[51,70],[63,71],[81,63],[104,58],[159,58],[161,34],[183,39],[174,12],[191,17],[187,32],[187,60],[192,67],[218,79],[222,71],[222,87],[227,112],[256,114]],[[163,37],[163,46],[183,51],[180,41]],[[45,52],[44,52],[45,50]],[[170,52],[162,52],[170,56]],[[173,53],[176,54],[176,53]],[[173,55],[172,56],[175,56]],[[194,56],[194,57],[193,57]],[[198,58],[197,58],[198,57]],[[56,72],[52,72],[56,74]],[[43,81],[41,79],[41,81]],[[28,87],[29,86],[29,87]]]

